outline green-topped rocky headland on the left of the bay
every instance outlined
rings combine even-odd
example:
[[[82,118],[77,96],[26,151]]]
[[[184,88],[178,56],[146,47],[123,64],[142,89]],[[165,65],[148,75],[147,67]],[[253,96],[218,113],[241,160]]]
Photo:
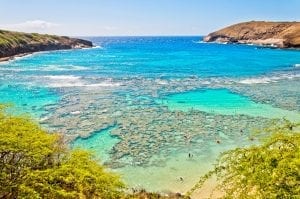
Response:
[[[2,59],[32,52],[92,46],[92,42],[82,39],[0,30],[0,58]]]

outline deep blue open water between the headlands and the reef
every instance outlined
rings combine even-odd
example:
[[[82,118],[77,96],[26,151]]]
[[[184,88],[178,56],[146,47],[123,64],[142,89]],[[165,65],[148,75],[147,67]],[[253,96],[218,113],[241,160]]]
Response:
[[[291,69],[300,62],[298,51],[201,43],[200,37],[89,39],[100,47],[36,54],[34,57],[12,62],[9,66],[21,70],[33,69],[25,70],[22,74],[35,75],[180,78],[253,76]],[[57,65],[65,66],[66,70],[51,69],[51,66]],[[88,70],[74,68],[75,71],[70,71],[74,66],[87,67]]]

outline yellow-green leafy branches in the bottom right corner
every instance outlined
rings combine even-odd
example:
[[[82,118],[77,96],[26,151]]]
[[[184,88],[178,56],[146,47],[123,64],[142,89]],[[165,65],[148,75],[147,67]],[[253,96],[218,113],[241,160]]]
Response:
[[[224,198],[300,198],[299,126],[285,122],[266,129],[261,144],[223,153],[187,195],[216,175]]]

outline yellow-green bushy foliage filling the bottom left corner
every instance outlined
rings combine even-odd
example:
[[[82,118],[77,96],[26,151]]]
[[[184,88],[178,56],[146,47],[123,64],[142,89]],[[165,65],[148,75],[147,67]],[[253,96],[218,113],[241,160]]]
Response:
[[[68,151],[24,117],[0,107],[0,198],[121,198],[118,176],[85,151]]]

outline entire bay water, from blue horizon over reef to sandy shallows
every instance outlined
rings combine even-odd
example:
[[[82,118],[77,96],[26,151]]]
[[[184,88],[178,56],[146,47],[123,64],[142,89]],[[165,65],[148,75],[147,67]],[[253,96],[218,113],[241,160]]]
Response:
[[[252,131],[300,121],[300,51],[201,37],[87,39],[94,48],[0,63],[0,102],[92,150],[129,187],[184,192],[220,152],[251,144]]]

